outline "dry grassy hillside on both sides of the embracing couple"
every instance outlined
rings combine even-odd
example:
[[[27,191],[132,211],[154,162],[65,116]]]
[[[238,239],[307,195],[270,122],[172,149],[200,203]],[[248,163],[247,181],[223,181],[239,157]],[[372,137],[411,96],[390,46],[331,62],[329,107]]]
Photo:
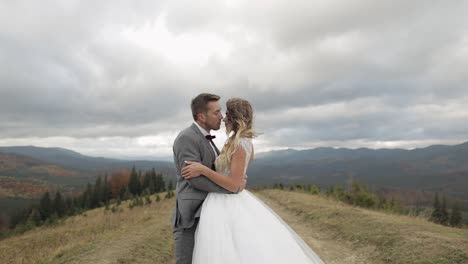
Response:
[[[467,263],[468,230],[355,208],[300,192],[256,195],[326,263]],[[173,263],[174,198],[103,208],[0,240],[0,263]]]

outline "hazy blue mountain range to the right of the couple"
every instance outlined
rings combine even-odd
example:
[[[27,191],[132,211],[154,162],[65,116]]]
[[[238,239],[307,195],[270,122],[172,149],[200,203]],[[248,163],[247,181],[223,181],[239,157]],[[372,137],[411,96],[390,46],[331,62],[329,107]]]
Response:
[[[376,189],[439,192],[468,200],[468,142],[406,149],[316,148],[260,153],[250,184],[321,186],[358,180]]]

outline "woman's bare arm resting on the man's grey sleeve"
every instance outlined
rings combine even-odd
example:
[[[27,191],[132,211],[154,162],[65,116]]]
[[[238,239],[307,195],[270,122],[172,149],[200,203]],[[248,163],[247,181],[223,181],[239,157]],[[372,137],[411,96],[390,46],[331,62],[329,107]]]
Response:
[[[244,180],[245,156],[245,150],[241,147],[237,148],[232,154],[231,174],[227,175],[229,177],[213,171],[203,164],[190,161],[187,161],[186,163],[188,166],[182,169],[182,176],[185,179],[190,179],[200,175],[205,175],[208,179],[224,189],[231,192],[237,192],[239,190],[239,186],[241,186],[241,182]]]

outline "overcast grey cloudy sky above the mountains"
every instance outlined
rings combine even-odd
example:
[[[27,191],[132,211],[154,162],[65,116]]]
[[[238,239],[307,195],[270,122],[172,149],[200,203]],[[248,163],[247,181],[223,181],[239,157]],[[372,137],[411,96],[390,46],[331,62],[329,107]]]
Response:
[[[168,158],[200,92],[251,101],[257,151],[461,143],[467,13],[457,0],[0,0],[0,145]]]

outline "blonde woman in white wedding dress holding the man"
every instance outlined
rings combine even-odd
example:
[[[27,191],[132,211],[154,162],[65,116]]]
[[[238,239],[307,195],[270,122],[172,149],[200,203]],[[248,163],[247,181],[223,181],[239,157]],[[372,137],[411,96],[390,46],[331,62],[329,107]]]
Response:
[[[246,100],[226,103],[224,118],[229,138],[213,171],[186,161],[182,176],[204,175],[219,186],[238,190],[254,157],[253,110]],[[271,208],[247,190],[237,195],[209,193],[195,233],[193,262],[218,263],[323,263],[315,252]]]

